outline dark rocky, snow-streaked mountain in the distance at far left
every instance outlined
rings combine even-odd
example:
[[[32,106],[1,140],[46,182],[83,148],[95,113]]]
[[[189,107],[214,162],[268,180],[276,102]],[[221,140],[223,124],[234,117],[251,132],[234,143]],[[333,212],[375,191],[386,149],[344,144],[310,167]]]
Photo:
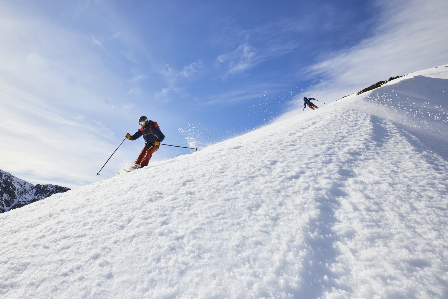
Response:
[[[23,207],[70,188],[52,185],[33,185],[0,169],[0,213]]]

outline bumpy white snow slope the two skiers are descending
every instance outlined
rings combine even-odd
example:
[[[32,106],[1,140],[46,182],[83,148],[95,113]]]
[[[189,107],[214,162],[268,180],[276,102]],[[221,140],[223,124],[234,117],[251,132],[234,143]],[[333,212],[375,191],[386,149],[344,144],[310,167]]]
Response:
[[[408,74],[4,213],[0,294],[447,298],[447,96]]]

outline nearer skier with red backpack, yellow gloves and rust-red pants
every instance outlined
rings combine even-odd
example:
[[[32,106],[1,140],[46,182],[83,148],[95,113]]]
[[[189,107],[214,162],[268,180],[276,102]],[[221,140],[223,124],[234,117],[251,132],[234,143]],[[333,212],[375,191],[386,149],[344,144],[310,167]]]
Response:
[[[160,131],[159,125],[156,121],[148,121],[146,116],[142,116],[138,119],[138,123],[142,127],[135,132],[134,135],[126,134],[126,138],[129,140],[135,140],[143,135],[145,139],[145,147],[143,147],[134,165],[129,170],[139,169],[148,166],[149,160],[151,160],[152,154],[157,152],[159,144],[164,140],[165,135]]]

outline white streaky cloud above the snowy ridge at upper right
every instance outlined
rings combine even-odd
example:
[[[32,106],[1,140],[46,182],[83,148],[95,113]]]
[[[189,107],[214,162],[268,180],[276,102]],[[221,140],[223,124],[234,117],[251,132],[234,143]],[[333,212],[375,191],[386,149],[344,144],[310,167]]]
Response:
[[[382,22],[374,35],[305,70],[310,77],[323,78],[305,94],[334,101],[391,76],[448,62],[446,0],[377,4]]]

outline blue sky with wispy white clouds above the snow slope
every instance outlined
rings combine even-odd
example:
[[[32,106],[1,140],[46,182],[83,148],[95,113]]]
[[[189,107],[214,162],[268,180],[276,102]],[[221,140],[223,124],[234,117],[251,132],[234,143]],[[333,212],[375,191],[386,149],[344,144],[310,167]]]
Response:
[[[95,177],[142,115],[204,147],[448,62],[446,1],[215,2],[0,1],[0,169],[82,186],[135,160],[126,140]]]

